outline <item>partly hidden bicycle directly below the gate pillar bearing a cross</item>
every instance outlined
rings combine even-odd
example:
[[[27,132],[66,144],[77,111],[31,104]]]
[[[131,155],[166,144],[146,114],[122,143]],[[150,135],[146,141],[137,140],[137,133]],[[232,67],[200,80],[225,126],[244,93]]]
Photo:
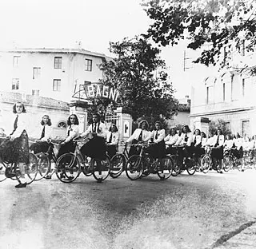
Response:
[[[123,151],[117,152],[110,160],[110,176],[112,178],[117,178],[122,174],[122,172],[125,170],[126,160],[129,158],[127,144],[122,145],[124,145]]]

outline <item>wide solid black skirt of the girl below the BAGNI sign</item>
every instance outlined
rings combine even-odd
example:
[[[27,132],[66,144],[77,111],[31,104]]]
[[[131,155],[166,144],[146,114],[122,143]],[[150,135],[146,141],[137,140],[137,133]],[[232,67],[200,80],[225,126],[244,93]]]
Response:
[[[106,143],[101,136],[94,136],[80,149],[82,155],[90,156],[91,158],[106,159]]]

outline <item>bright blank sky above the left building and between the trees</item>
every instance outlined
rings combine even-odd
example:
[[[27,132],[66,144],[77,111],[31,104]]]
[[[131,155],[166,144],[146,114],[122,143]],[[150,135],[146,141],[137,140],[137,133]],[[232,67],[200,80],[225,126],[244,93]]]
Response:
[[[110,41],[146,33],[152,22],[141,0],[0,0],[0,48],[75,48],[109,52]],[[183,78],[184,45],[162,49],[175,96],[190,95]]]

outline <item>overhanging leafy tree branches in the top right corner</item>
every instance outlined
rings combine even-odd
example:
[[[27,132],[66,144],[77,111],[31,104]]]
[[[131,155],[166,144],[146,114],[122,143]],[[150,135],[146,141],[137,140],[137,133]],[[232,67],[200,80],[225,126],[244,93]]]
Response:
[[[187,38],[188,48],[202,49],[196,63],[229,67],[233,46],[254,51],[254,0],[155,0],[142,5],[154,20],[145,37],[163,46]],[[243,69],[256,73],[255,65]]]

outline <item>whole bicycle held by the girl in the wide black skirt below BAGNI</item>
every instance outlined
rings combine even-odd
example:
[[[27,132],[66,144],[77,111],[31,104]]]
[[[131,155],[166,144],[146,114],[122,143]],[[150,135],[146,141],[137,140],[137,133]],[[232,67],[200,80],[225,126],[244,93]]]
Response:
[[[63,183],[71,183],[83,172],[85,176],[93,175],[96,180],[106,180],[110,174],[109,156],[106,156],[105,159],[91,158],[89,162],[80,151],[78,142],[81,141],[84,140],[74,140],[74,153],[65,153],[58,158],[56,172],[58,179]]]

